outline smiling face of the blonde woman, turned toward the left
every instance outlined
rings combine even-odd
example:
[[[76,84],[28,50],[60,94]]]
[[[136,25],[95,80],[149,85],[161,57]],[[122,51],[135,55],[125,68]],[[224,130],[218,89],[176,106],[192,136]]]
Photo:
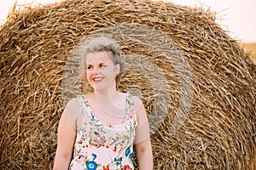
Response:
[[[94,90],[108,89],[114,86],[119,74],[119,65],[114,65],[108,52],[96,52],[86,55],[86,77]]]

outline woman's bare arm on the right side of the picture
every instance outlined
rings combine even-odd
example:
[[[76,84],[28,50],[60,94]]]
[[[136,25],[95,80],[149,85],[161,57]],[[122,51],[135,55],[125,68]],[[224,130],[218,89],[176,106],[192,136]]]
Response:
[[[139,100],[137,109],[137,127],[135,137],[135,149],[140,170],[153,169],[153,154],[150,141],[148,116],[143,103]]]

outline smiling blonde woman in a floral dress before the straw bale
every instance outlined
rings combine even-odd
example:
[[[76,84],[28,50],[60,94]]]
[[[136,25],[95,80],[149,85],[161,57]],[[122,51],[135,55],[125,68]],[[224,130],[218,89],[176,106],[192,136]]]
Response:
[[[124,70],[119,45],[107,37],[83,44],[83,77],[92,90],[71,99],[63,111],[54,169],[134,169],[133,145],[139,169],[153,169],[143,103],[116,88]]]

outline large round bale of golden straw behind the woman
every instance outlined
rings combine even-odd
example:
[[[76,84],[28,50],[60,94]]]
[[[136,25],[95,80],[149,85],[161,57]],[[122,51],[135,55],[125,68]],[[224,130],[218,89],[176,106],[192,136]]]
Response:
[[[105,29],[116,26],[119,33]],[[253,61],[215,14],[141,0],[70,0],[9,14],[0,31],[1,169],[52,168],[61,112],[79,89],[63,84],[77,71],[67,61],[92,32],[117,38],[128,64],[142,65],[127,64],[119,90],[137,92],[151,117],[154,169],[253,169]]]

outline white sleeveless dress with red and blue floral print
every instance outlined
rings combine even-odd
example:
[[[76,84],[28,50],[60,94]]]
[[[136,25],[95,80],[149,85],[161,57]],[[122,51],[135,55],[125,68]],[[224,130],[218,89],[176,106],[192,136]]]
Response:
[[[73,150],[72,170],[131,170],[131,161],[137,116],[132,95],[126,94],[125,119],[115,125],[107,125],[93,115],[88,101],[79,96],[82,125],[77,131]]]

